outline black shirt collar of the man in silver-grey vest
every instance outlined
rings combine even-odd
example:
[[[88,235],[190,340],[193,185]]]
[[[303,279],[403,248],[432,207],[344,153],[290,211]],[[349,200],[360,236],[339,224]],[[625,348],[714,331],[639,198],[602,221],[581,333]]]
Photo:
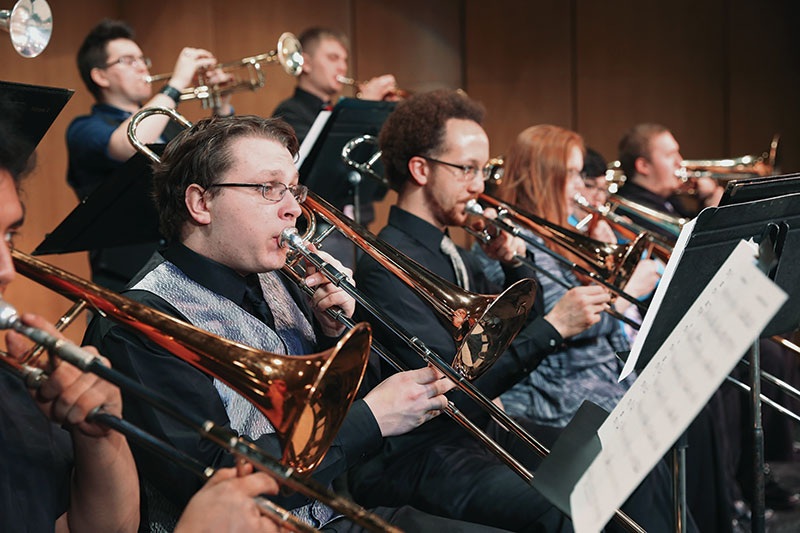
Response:
[[[163,256],[192,281],[242,306],[247,282],[235,270],[198,254],[181,243],[170,244]]]

